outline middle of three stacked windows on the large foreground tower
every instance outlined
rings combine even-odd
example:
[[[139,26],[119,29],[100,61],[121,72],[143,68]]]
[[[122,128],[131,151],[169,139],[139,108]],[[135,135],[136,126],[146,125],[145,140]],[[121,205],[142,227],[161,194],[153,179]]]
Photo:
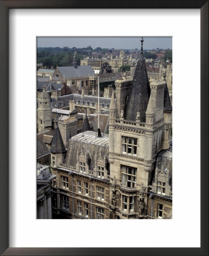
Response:
[[[121,166],[122,169],[122,186],[135,188],[137,183],[137,169],[129,166]]]

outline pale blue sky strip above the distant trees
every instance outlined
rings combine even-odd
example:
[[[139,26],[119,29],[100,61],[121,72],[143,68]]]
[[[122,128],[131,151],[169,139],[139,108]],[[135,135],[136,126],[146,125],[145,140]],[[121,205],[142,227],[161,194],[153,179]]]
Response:
[[[115,48],[135,49],[140,48],[140,37],[38,37],[37,47],[64,47],[83,48]],[[172,49],[172,37],[144,37],[144,49],[163,48]]]

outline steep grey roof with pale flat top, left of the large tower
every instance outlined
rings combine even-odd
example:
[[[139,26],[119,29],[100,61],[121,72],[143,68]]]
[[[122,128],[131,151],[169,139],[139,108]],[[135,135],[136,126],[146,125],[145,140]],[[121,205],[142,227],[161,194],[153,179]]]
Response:
[[[87,154],[91,159],[91,161],[89,161],[89,168],[93,170],[96,161],[100,157],[103,159],[105,157],[108,158],[108,144],[108,136],[97,137],[97,133],[95,131],[79,133],[70,139],[64,163],[68,166],[75,167],[78,155],[85,156]]]

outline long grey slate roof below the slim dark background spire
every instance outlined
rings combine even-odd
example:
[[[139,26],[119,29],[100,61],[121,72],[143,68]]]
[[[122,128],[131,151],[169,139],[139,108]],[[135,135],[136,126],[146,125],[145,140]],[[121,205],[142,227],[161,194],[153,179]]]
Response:
[[[62,74],[62,77],[65,75],[66,78],[73,77],[88,77],[88,76],[96,76],[90,65],[78,66],[74,67],[58,67],[59,71]]]

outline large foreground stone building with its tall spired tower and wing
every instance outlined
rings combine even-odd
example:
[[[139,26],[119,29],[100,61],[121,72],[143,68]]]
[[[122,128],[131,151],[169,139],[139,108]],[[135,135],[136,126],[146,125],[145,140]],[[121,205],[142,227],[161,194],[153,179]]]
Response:
[[[133,79],[116,81],[109,134],[86,130],[65,148],[56,128],[56,218],[172,217],[172,105],[166,81],[148,80],[141,42]]]

